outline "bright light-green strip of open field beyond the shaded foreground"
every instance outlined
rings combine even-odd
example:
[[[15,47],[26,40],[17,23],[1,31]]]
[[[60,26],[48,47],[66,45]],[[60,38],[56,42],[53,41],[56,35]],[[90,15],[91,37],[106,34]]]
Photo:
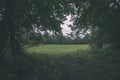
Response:
[[[88,45],[37,45],[27,49],[29,53],[60,54],[89,50]]]

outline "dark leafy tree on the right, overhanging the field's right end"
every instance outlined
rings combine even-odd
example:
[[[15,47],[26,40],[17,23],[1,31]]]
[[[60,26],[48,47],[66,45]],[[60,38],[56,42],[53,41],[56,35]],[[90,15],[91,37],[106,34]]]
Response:
[[[96,48],[103,48],[105,44],[120,48],[119,0],[75,0],[74,3],[77,10],[74,28],[91,30]]]

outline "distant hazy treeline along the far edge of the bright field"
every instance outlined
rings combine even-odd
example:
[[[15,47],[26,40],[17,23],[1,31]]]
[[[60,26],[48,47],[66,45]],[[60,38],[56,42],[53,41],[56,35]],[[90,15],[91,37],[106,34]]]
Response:
[[[72,36],[64,36],[62,34],[57,35],[43,35],[43,43],[44,44],[88,44],[89,43],[89,35],[85,37],[72,37]]]

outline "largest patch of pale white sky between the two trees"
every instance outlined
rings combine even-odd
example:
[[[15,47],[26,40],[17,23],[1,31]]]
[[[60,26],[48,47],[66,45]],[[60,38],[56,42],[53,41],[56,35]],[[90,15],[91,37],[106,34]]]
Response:
[[[73,22],[70,21],[70,18],[71,18],[71,15],[67,16],[67,20],[64,21],[61,25],[62,27],[62,32],[63,32],[63,35],[66,35],[67,33],[71,33],[71,29],[68,27],[69,25],[73,25]]]

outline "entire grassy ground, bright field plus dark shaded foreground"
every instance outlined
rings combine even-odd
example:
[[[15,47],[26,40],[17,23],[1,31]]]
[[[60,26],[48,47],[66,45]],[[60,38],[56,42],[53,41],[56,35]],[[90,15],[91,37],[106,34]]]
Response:
[[[0,80],[120,80],[120,52],[88,45],[37,45],[0,63]]]

